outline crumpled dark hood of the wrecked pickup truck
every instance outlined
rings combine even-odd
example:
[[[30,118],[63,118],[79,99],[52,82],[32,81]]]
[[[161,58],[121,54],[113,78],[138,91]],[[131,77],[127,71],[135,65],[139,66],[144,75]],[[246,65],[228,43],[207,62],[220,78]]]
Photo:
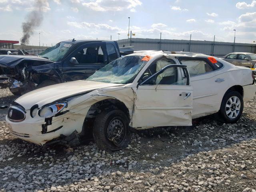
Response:
[[[53,63],[53,61],[46,58],[34,56],[34,55],[0,55],[0,67],[14,67],[20,62],[27,61],[41,61],[46,63]]]

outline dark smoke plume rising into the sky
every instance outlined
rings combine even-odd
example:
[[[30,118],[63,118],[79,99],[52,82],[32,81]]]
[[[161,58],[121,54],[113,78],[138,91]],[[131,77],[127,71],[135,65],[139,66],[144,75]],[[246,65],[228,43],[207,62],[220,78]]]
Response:
[[[34,34],[35,28],[42,23],[43,8],[47,3],[47,0],[36,0],[34,10],[27,15],[26,22],[22,23],[23,36],[20,39],[22,45],[29,43],[29,38]]]

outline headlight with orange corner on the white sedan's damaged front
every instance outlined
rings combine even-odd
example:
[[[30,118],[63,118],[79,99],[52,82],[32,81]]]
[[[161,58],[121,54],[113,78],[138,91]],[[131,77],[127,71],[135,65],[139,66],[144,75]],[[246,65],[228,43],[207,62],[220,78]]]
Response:
[[[67,106],[66,102],[60,102],[60,103],[45,106],[42,109],[40,109],[39,116],[44,118],[53,117],[54,115],[58,114],[66,106]]]

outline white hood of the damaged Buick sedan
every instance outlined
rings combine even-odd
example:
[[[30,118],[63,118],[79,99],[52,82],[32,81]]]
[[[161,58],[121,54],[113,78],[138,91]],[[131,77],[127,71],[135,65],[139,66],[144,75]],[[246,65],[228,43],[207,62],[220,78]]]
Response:
[[[123,86],[122,84],[102,83],[94,81],[72,81],[61,84],[55,84],[28,92],[15,100],[16,103],[23,106],[26,110],[33,105],[38,104],[38,107],[50,104],[56,100],[66,98],[69,96],[76,96],[77,94],[86,93],[90,90],[99,88]]]

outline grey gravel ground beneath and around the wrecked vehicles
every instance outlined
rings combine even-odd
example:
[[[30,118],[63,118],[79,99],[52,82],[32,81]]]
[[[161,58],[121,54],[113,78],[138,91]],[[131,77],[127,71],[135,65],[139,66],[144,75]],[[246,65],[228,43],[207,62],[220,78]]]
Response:
[[[0,90],[0,105],[16,98]],[[37,146],[12,136],[0,109],[0,191],[256,192],[256,97],[236,124],[139,131],[118,152],[94,143]]]

